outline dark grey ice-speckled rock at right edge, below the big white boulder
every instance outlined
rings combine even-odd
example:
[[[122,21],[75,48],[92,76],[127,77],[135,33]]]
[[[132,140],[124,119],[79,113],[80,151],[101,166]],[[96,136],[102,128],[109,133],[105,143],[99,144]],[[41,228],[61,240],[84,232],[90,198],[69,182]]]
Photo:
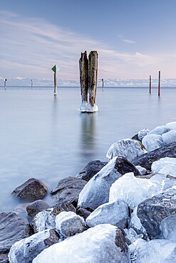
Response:
[[[150,239],[160,238],[163,219],[176,214],[176,189],[165,190],[138,205],[137,215]]]

